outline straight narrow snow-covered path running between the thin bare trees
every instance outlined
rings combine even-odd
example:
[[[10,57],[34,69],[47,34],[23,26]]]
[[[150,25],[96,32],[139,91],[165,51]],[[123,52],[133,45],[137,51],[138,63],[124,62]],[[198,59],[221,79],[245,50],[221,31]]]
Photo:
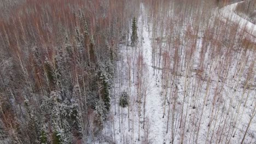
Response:
[[[143,11],[143,8],[142,8]],[[138,32],[142,43],[143,63],[146,66],[147,96],[146,96],[146,119],[148,119],[149,140],[152,143],[163,143],[165,137],[166,122],[162,118],[164,107],[162,105],[161,92],[161,70],[152,67],[152,41],[149,37],[147,27],[142,22],[142,15],[139,17]],[[154,71],[155,70],[155,71]],[[155,73],[154,73],[155,72]],[[147,126],[145,126],[147,127]],[[144,129],[146,131],[146,129]]]

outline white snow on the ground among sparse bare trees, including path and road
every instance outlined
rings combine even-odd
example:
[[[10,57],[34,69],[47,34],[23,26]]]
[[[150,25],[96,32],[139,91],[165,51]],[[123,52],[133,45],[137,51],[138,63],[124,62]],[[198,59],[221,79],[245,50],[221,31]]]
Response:
[[[236,4],[228,5],[220,10],[220,13],[231,21],[243,21],[236,16],[230,14],[229,10],[232,10]],[[167,130],[167,109],[168,105],[171,101],[167,101],[166,107],[164,106],[164,101],[166,100],[162,94],[162,65],[160,67],[153,67],[152,61],[152,38],[150,38],[150,31],[148,31],[148,26],[145,25],[144,22],[144,14],[146,13],[143,9],[143,5],[141,6],[141,15],[138,17],[138,46],[131,47],[127,45],[120,45],[120,55],[117,69],[117,79],[114,85],[114,98],[112,98],[112,108],[109,112],[108,121],[104,124],[104,128],[102,130],[102,135],[105,137],[102,143],[170,143],[171,142],[171,133],[170,127],[168,125],[168,133]],[[235,15],[235,13],[234,13]],[[243,21],[243,23],[245,23]],[[247,22],[246,22],[247,23]],[[243,25],[241,23],[241,25]],[[250,23],[247,23],[248,27],[251,26]],[[150,25],[149,25],[150,26]],[[232,127],[229,125],[234,125],[232,121],[237,119],[236,127],[233,129],[234,137],[226,137],[225,140],[230,139],[230,143],[238,143],[241,140],[241,137],[245,133],[245,129],[247,127],[249,118],[252,113],[252,105],[253,101],[255,101],[256,83],[253,79],[255,79],[255,75],[253,75],[252,80],[249,81],[249,84],[252,86],[251,91],[249,89],[243,88],[244,83],[246,82],[246,75],[248,73],[248,67],[252,64],[254,53],[251,50],[248,50],[246,53],[243,53],[245,57],[248,56],[247,61],[244,62],[245,70],[236,70],[236,65],[240,62],[241,59],[237,59],[237,61],[229,61],[229,65],[232,65],[226,73],[227,79],[224,80],[222,72],[214,69],[217,68],[218,65],[222,64],[223,67],[226,67],[226,59],[223,59],[224,56],[217,57],[213,59],[212,69],[211,67],[206,67],[203,71],[204,74],[202,76],[198,76],[198,67],[199,67],[199,55],[202,47],[202,41],[200,39],[197,40],[197,49],[195,55],[192,56],[194,59],[193,68],[190,69],[188,77],[185,77],[184,74],[187,73],[185,69],[182,71],[181,75],[177,76],[174,81],[174,85],[169,86],[170,88],[177,89],[177,113],[175,113],[176,119],[178,123],[174,125],[177,128],[176,136],[174,139],[174,143],[181,142],[182,133],[184,133],[184,141],[183,143],[205,143],[205,141],[210,140],[208,135],[211,133],[217,133],[217,131],[223,131],[223,133],[228,133],[228,128]],[[240,53],[240,55],[241,55]],[[207,62],[208,51],[205,54],[205,59]],[[181,55],[181,59],[184,59],[184,54]],[[138,74],[139,63],[142,62],[142,73]],[[209,66],[209,65],[208,65]],[[130,67],[130,68],[129,68]],[[129,73],[130,73],[130,87],[129,87]],[[238,74],[235,76],[235,74]],[[225,75],[225,74],[224,74]],[[138,80],[138,77],[141,78],[141,81]],[[186,82],[187,81],[187,82]],[[142,83],[143,92],[146,92],[146,99],[143,96],[141,99],[141,105],[139,105],[138,100],[138,85]],[[200,89],[193,89],[193,85],[201,85]],[[207,88],[207,85],[210,85]],[[188,97],[184,97],[185,88],[189,92],[187,93]],[[219,87],[221,89],[219,89]],[[120,107],[119,106],[119,97],[121,92],[126,91],[130,95],[130,104],[131,107]],[[200,92],[199,92],[200,91]],[[220,101],[216,102],[215,106],[207,106],[207,103],[213,103],[213,96],[220,91]],[[194,95],[195,94],[195,95]],[[198,94],[198,95],[196,95]],[[142,94],[145,95],[145,94]],[[167,92],[167,95],[171,95]],[[169,97],[169,96],[168,96]],[[170,96],[171,97],[171,96]],[[246,98],[247,97],[247,98]],[[242,99],[246,98],[246,100]],[[207,99],[207,100],[205,100]],[[143,115],[143,104],[144,100],[146,101],[145,105],[145,115]],[[242,103],[239,101],[242,100]],[[184,101],[183,107],[183,118],[182,121],[186,121],[184,131],[179,129],[179,122],[181,121],[179,118],[181,117],[181,107]],[[194,104],[194,101],[197,101]],[[231,105],[230,104],[231,101]],[[205,105],[206,103],[206,105]],[[238,105],[238,106],[237,106]],[[218,108],[216,108],[218,106]],[[139,110],[141,109],[141,116],[139,115]],[[165,110],[165,118],[164,109]],[[214,112],[211,112],[213,111]],[[130,113],[129,113],[129,110]],[[188,116],[185,116],[185,112],[187,111]],[[201,113],[201,118],[196,113]],[[211,115],[214,113],[214,115]],[[231,114],[229,114],[231,113]],[[197,116],[195,116],[197,115]],[[224,115],[224,117],[223,117]],[[130,118],[129,118],[130,116]],[[145,116],[145,117],[144,117]],[[193,117],[194,116],[194,117]],[[228,117],[227,119],[225,119]],[[187,119],[187,120],[186,120]],[[198,119],[202,119],[202,122],[199,126],[195,126],[197,124]],[[231,119],[231,120],[230,120]],[[170,120],[171,121],[171,120]],[[169,121],[169,123],[170,123]],[[196,121],[196,122],[194,122]],[[210,121],[213,123],[210,124]],[[227,121],[226,123],[223,121]],[[144,124],[144,129],[143,129]],[[209,126],[210,125],[210,126]],[[223,128],[226,129],[214,129],[215,126],[223,125]],[[182,125],[183,127],[184,125]],[[216,126],[216,128],[217,128]],[[197,128],[200,129],[197,129]],[[222,127],[222,126],[220,126]],[[130,129],[129,129],[130,128]],[[195,135],[195,131],[199,131],[198,135]],[[182,132],[183,131],[183,132]],[[224,136],[225,134],[223,134]],[[251,124],[248,137],[246,137],[246,141],[256,142],[256,119],[253,119]],[[148,137],[148,138],[147,138]],[[208,138],[207,138],[208,137]],[[138,139],[139,138],[139,139]],[[213,135],[212,140],[214,143],[218,143],[218,136]],[[196,141],[194,141],[196,140]],[[146,141],[146,142],[145,142]],[[220,141],[223,143],[224,141]]]

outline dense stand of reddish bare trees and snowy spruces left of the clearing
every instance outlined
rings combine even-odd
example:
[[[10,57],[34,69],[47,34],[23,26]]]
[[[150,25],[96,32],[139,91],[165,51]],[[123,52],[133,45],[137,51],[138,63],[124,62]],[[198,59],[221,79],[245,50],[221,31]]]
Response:
[[[0,3],[0,143],[98,141],[137,1]]]

